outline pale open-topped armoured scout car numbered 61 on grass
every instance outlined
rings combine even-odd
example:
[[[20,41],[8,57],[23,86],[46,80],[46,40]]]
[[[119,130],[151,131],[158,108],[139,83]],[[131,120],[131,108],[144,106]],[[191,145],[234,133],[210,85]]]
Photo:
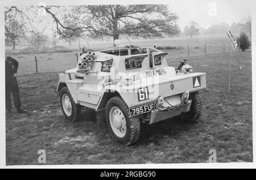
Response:
[[[76,121],[81,107],[96,111],[110,134],[126,145],[137,142],[140,123],[179,116],[196,121],[202,111],[199,90],[206,73],[193,72],[186,60],[169,67],[156,46],[117,46],[79,54],[77,67],[59,74],[57,92],[65,118]]]

